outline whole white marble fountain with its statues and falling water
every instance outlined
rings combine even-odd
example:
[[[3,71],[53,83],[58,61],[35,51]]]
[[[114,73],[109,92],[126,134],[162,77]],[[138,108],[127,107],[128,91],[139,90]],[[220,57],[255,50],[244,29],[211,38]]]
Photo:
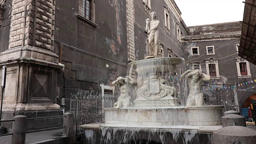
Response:
[[[155,15],[150,16],[153,21]],[[149,26],[150,22],[146,20]],[[184,72],[183,58],[158,58],[156,45],[151,50],[152,55],[144,60],[128,64],[125,78],[112,82],[120,89],[120,96],[114,108],[104,108],[104,122],[81,126],[87,143],[212,143],[213,131],[222,128],[224,106],[204,104],[202,82],[210,77],[200,70]],[[180,74],[185,88],[188,85],[190,89],[186,104],[179,104],[176,86],[170,82],[174,73]]]

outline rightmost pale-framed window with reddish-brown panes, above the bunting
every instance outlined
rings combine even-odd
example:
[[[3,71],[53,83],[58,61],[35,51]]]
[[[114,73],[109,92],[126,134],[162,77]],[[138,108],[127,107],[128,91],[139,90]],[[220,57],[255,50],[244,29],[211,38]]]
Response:
[[[238,78],[251,78],[250,63],[244,58],[236,58],[236,68]]]

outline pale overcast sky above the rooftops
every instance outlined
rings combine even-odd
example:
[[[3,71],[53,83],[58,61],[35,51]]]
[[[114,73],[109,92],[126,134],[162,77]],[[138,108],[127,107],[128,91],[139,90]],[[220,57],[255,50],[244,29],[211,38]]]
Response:
[[[175,0],[187,26],[242,21],[245,0]]]

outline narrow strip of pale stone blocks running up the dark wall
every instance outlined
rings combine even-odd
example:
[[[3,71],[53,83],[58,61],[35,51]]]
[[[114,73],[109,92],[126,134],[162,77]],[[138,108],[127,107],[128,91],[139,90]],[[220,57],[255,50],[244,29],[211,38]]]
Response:
[[[126,20],[127,20],[127,48],[128,60],[134,62],[135,46],[134,46],[134,3],[133,0],[126,0]]]

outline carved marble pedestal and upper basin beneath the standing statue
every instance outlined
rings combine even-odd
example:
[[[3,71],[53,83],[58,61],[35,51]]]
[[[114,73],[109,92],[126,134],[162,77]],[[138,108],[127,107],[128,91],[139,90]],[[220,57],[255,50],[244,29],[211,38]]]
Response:
[[[183,58],[151,58],[129,64],[135,71],[138,89],[134,107],[179,106],[176,88],[168,86],[164,76],[176,69]]]

